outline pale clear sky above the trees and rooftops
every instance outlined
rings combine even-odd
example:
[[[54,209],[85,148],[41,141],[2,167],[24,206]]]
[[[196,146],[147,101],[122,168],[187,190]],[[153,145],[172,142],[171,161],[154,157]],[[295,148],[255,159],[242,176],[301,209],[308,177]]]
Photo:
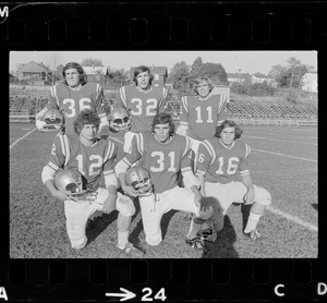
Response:
[[[52,65],[66,64],[83,59],[99,59],[105,66],[113,70],[130,70],[131,66],[167,66],[168,72],[177,62],[192,65],[201,57],[203,63],[220,63],[227,73],[256,72],[268,74],[271,66],[287,65],[290,57],[300,59],[303,64],[313,65],[317,71],[317,51],[10,51],[9,70],[16,71],[17,64],[31,61]]]

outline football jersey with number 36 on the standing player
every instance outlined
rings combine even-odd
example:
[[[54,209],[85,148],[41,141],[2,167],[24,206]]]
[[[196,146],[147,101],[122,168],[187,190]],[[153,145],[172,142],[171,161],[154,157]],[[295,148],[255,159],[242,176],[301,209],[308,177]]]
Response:
[[[102,99],[104,89],[98,83],[86,83],[80,89],[59,83],[51,87],[46,109],[59,109],[64,116],[65,133],[75,134],[74,121],[81,111],[90,109],[100,118],[106,114]]]

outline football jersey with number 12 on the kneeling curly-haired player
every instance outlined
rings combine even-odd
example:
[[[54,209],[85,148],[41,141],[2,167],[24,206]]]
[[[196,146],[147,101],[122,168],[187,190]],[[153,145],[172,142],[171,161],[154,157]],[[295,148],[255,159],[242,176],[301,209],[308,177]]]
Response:
[[[55,171],[59,168],[78,170],[87,181],[87,190],[96,191],[101,172],[104,175],[114,173],[116,156],[117,146],[110,140],[96,140],[92,146],[85,146],[77,135],[59,133],[53,140],[48,166]]]

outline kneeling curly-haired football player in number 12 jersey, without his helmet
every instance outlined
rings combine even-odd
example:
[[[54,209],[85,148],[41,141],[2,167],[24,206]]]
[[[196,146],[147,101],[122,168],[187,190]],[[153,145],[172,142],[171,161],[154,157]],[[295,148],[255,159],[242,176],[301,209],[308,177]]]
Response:
[[[50,160],[43,169],[41,179],[53,197],[64,201],[66,231],[73,249],[86,245],[85,228],[89,217],[117,209],[118,247],[132,257],[138,257],[143,253],[128,241],[135,207],[131,198],[117,192],[118,179],[113,171],[117,147],[110,140],[96,137],[99,124],[97,113],[90,110],[80,112],[74,121],[78,136],[59,133],[55,137]],[[86,195],[76,201],[70,192],[57,189],[56,173],[61,169],[78,171],[85,183],[83,190],[97,193],[96,199],[90,203]],[[101,175],[106,189],[99,187]]]

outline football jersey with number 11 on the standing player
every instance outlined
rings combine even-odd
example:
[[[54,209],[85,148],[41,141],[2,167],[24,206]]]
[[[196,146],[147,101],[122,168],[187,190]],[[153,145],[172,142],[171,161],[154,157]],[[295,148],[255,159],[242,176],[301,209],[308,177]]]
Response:
[[[187,135],[203,141],[213,137],[216,126],[227,117],[227,96],[211,95],[182,97],[180,124],[187,126]]]

